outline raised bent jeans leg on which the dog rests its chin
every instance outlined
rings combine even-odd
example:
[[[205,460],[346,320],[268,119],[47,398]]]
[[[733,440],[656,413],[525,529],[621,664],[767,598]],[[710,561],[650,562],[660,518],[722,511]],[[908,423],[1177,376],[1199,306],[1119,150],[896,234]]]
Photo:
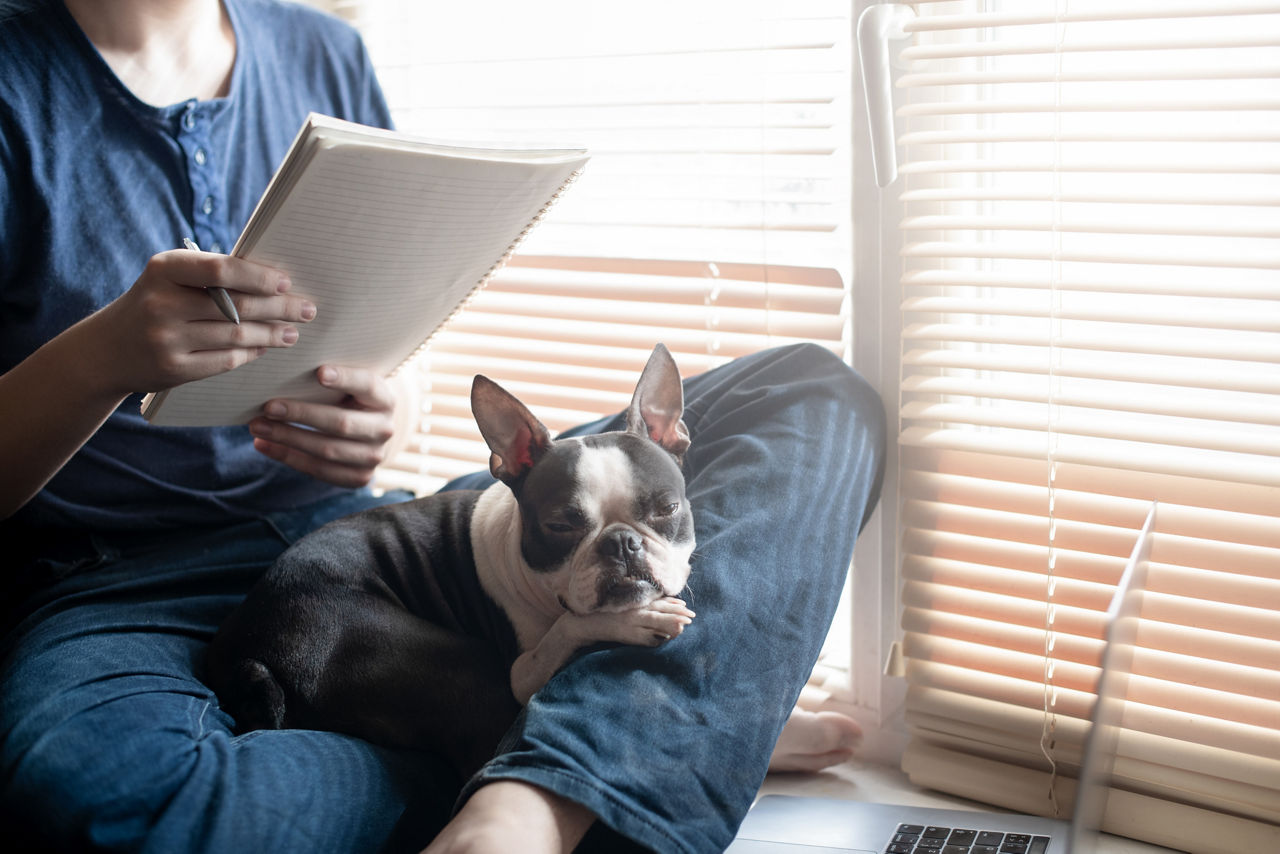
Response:
[[[698,548],[682,595],[698,617],[658,649],[579,657],[467,786],[538,784],[663,853],[732,840],[822,648],[884,461],[878,394],[814,346],[737,360],[685,396]]]

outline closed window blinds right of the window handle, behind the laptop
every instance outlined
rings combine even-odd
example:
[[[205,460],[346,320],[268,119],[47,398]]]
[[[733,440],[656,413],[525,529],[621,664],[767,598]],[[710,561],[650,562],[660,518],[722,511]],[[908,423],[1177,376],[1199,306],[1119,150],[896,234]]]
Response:
[[[1065,814],[1152,499],[1106,827],[1280,846],[1280,3],[913,4],[896,131],[919,784]]]

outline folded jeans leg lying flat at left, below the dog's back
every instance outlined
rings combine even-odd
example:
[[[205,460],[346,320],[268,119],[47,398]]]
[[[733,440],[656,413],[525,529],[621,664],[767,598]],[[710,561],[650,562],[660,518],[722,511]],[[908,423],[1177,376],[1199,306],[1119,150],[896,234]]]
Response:
[[[201,682],[225,615],[285,545],[406,498],[346,495],[218,533],[95,536],[0,649],[0,827],[15,850],[376,850],[430,757],[329,732],[232,734]]]

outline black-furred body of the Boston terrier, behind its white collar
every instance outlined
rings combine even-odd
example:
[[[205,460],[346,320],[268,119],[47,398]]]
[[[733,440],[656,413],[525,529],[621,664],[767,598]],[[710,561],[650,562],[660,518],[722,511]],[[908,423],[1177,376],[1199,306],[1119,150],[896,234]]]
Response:
[[[517,649],[476,577],[479,495],[365,511],[285,551],[209,650],[209,684],[238,730],[429,748],[463,775],[488,761],[518,711]]]

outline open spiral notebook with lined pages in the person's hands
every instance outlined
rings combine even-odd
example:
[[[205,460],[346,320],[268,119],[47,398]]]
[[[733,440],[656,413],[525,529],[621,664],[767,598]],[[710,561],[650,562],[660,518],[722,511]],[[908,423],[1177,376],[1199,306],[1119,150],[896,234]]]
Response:
[[[394,373],[497,273],[585,166],[582,149],[440,143],[312,114],[232,255],[316,303],[293,347],[148,394],[151,424],[244,424],[271,398],[334,402],[320,365]]]

